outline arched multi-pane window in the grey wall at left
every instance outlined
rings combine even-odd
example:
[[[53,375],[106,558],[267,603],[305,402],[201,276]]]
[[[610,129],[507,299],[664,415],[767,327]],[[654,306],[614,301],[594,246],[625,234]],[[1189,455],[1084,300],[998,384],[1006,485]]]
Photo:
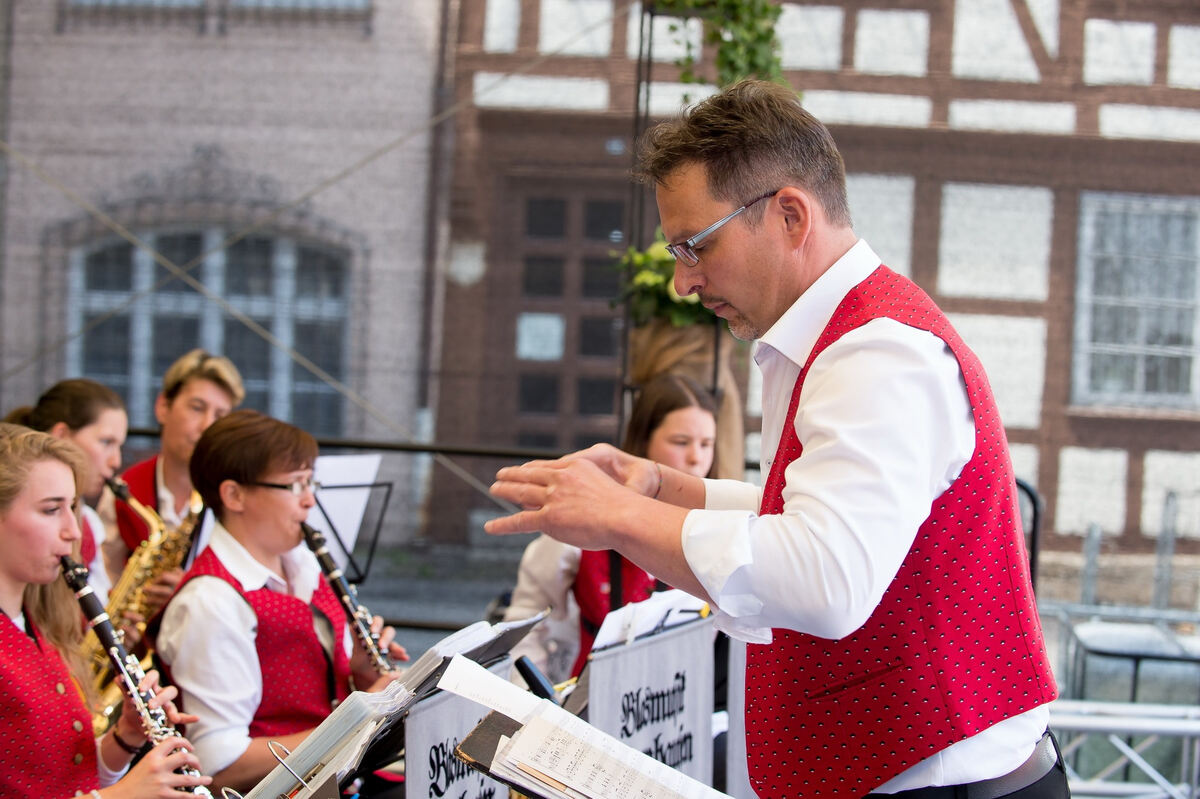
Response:
[[[256,235],[228,250],[224,228],[162,230],[143,238],[240,313],[337,380],[347,370],[349,254],[318,242]],[[240,319],[124,241],[78,250],[68,307],[71,328],[92,325],[72,342],[72,373],[112,386],[134,426],[151,427],[162,374],[203,347],[229,356],[246,384],[244,407],[292,421],[314,435],[342,435],[342,396],[292,362]],[[152,290],[151,287],[154,287]],[[145,292],[134,296],[137,292]]]

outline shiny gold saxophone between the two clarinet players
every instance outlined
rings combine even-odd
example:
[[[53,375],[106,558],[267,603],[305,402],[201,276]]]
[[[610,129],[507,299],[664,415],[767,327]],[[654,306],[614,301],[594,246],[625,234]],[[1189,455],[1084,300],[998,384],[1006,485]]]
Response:
[[[138,548],[130,554],[113,590],[108,594],[108,607],[106,612],[109,619],[118,621],[130,615],[142,619],[137,623],[138,632],[145,632],[146,603],[143,588],[149,585],[160,575],[179,569],[187,557],[187,549],[192,543],[192,533],[196,529],[200,515],[204,512],[204,504],[199,494],[192,493],[187,516],[174,530],[163,523],[162,517],[154,510],[146,507],[130,493],[130,487],[120,477],[112,477],[104,481],[118,499],[122,500],[142,517],[150,529],[149,537],[138,545]],[[124,631],[118,630],[124,644]],[[114,714],[121,705],[121,686],[114,681],[112,661],[106,651],[104,643],[98,636],[89,636],[84,639],[84,654],[92,666],[95,675],[94,686],[101,697],[100,710],[92,716],[92,727],[98,733],[108,728],[114,719]],[[143,668],[150,665],[149,653],[142,661]]]

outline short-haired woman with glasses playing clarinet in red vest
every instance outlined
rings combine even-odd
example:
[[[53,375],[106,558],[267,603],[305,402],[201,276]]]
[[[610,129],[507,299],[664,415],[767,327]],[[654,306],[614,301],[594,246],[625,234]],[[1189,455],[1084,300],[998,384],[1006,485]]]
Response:
[[[157,648],[199,721],[188,727],[217,786],[246,791],[294,750],[350,690],[380,674],[350,632],[337,596],[305,546],[316,504],[317,441],[256,410],[235,410],[200,437],[192,483],[217,524],[167,603]],[[395,631],[373,627],[382,651],[407,657]]]

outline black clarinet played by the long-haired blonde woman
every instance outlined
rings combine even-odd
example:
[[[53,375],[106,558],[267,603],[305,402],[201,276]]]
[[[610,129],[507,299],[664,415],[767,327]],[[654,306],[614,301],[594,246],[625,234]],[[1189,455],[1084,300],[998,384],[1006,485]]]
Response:
[[[142,671],[138,659],[126,651],[120,635],[113,629],[113,623],[104,611],[104,606],[100,603],[100,597],[96,596],[91,585],[88,584],[88,569],[71,558],[64,557],[62,578],[66,579],[71,590],[76,593],[79,607],[83,608],[84,615],[88,617],[88,626],[96,633],[96,637],[100,638],[101,644],[103,644],[108,653],[108,659],[113,665],[113,679],[133,699],[133,704],[138,709],[138,715],[142,716],[142,728],[146,733],[146,739],[151,744],[161,744],[169,738],[180,738],[179,731],[168,721],[167,713],[162,708],[150,707],[149,703],[154,698],[154,692],[138,690],[138,684],[145,677],[145,672]],[[188,776],[200,776],[199,771],[187,765],[180,768],[179,773]],[[210,799],[212,797],[212,793],[203,785],[179,789],[197,797],[209,797]]]

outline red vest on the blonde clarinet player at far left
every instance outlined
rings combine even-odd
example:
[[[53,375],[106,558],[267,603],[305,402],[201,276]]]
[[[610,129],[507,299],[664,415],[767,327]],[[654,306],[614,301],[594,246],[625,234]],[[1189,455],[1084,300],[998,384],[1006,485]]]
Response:
[[[100,787],[91,714],[58,650],[0,614],[0,797]]]

